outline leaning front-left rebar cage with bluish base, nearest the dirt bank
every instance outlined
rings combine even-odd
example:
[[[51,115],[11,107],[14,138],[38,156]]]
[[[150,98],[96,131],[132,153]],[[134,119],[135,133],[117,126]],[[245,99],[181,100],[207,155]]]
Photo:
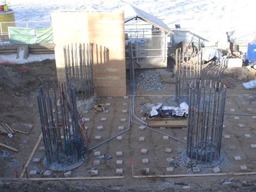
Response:
[[[37,102],[45,148],[44,165],[55,171],[76,168],[84,162],[86,145],[79,124],[76,90],[58,93],[57,86],[41,86]]]

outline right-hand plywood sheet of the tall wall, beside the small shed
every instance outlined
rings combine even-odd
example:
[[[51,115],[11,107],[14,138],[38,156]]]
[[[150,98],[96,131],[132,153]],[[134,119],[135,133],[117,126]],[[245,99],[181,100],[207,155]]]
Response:
[[[88,35],[90,43],[98,44],[94,53],[95,91],[103,96],[126,95],[126,73],[124,52],[124,14],[123,12],[88,13]],[[108,61],[100,58],[103,48],[108,48]],[[94,46],[94,51],[96,50]],[[113,88],[112,88],[113,87]]]

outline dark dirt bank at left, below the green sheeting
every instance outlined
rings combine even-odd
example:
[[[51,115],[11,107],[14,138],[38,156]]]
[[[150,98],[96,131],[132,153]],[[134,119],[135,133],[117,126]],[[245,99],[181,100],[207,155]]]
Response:
[[[26,65],[0,65],[0,122],[32,122],[34,91],[45,82],[56,81],[55,61],[30,62]]]

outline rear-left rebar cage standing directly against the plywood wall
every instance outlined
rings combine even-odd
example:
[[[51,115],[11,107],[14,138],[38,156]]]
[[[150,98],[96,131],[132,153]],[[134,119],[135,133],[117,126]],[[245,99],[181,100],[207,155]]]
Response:
[[[66,82],[74,84],[79,101],[94,97],[93,45],[74,43],[64,46]]]

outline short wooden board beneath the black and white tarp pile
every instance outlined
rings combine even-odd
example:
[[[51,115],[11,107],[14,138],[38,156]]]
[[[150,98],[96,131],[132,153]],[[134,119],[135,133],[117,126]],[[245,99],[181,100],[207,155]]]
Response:
[[[186,128],[188,126],[188,120],[186,118],[175,117],[152,117],[148,118],[148,125],[153,128]]]

